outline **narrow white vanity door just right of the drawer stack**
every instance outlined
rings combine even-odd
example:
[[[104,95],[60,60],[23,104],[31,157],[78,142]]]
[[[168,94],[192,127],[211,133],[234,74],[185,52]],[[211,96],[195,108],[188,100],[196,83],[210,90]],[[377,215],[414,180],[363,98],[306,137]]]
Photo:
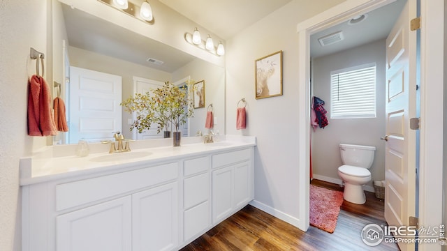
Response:
[[[212,172],[212,222],[226,218],[233,210],[233,167]]]

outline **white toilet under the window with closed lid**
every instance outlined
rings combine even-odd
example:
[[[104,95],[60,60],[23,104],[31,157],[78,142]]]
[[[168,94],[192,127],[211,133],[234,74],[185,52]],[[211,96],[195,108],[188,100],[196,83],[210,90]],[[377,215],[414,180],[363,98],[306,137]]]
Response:
[[[355,204],[365,204],[363,185],[371,181],[371,167],[374,160],[374,146],[339,144],[344,165],[338,168],[338,176],[344,183],[343,198]]]

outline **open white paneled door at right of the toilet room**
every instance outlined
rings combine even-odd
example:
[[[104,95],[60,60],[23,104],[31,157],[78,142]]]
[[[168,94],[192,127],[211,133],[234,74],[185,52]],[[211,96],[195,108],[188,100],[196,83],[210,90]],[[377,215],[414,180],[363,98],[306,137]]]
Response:
[[[416,131],[409,120],[416,116],[416,0],[408,0],[386,39],[386,195],[385,218],[390,226],[409,226],[415,215]],[[401,250],[414,244],[398,243]]]

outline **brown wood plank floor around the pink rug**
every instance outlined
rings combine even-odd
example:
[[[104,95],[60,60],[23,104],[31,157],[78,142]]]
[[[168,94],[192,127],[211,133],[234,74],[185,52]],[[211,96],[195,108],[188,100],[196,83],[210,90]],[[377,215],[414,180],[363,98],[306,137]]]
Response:
[[[313,180],[312,184],[332,190],[339,185]],[[253,206],[246,206],[221,222],[182,251],[189,250],[399,250],[396,244],[384,243],[369,247],[360,232],[365,225],[385,225],[383,201],[367,193],[363,205],[344,201],[333,234],[310,226],[307,232],[272,217]]]

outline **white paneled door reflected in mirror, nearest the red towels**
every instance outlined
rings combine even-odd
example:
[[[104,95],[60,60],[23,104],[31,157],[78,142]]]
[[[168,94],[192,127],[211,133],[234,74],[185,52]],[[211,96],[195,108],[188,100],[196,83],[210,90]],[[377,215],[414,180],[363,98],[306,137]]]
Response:
[[[112,140],[122,131],[122,77],[70,67],[68,144]]]

